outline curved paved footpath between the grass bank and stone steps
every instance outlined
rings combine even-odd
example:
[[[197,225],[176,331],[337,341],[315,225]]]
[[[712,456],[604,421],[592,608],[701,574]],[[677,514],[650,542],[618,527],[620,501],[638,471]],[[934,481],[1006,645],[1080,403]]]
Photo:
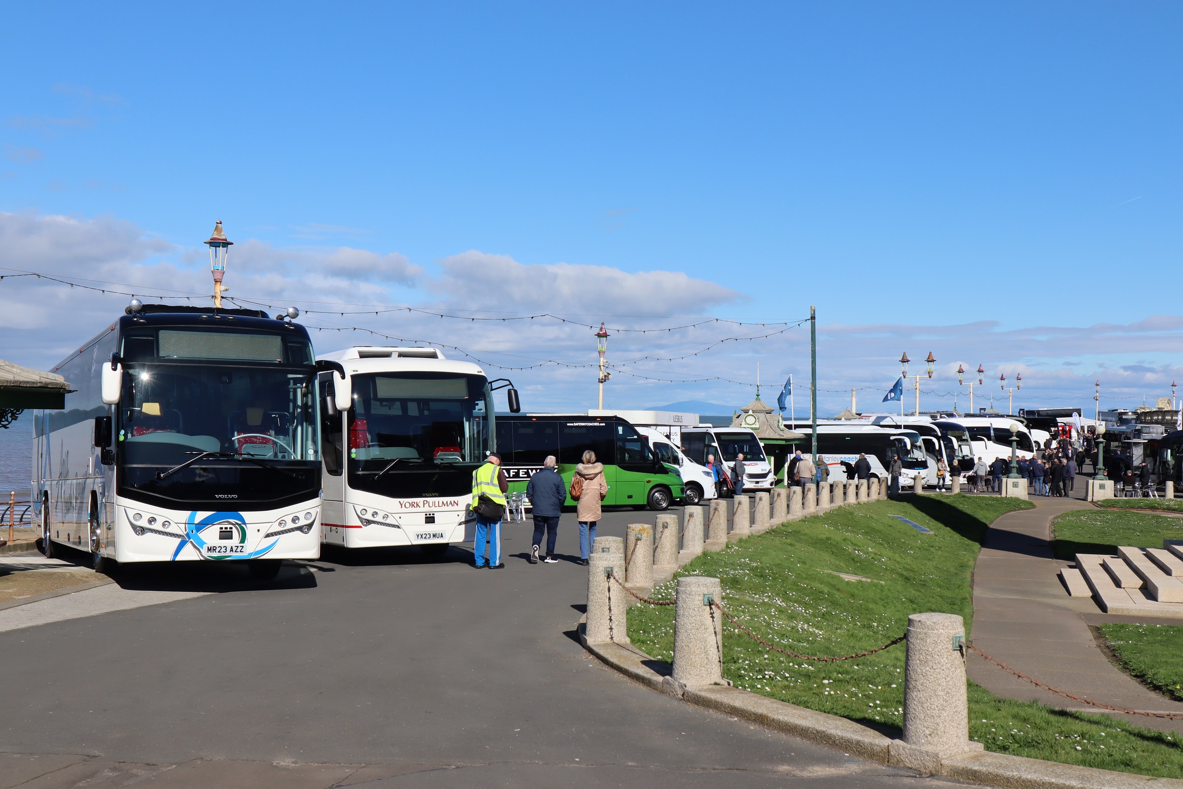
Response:
[[[1091,507],[1074,499],[1033,499],[1034,510],[1003,515],[990,526],[974,569],[974,646],[1053,687],[1130,710],[1183,712],[1183,704],[1146,690],[1101,653],[1085,616],[1100,615],[1091,597],[1069,597],[1052,558],[1052,519]],[[1098,616],[1090,619],[1100,621]],[[1127,620],[1129,617],[1121,617]],[[1113,617],[1117,621],[1117,617]],[[1162,622],[1161,619],[1153,620]],[[1094,711],[1024,683],[969,653],[970,679],[996,696]],[[1183,722],[1121,716],[1155,729],[1183,731]]]

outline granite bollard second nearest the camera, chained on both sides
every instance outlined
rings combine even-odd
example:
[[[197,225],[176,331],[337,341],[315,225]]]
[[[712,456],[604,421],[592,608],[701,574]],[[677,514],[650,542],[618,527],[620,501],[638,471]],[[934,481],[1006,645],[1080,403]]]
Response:
[[[673,626],[673,680],[680,688],[694,685],[722,685],[723,616],[711,603],[723,604],[718,578],[678,578]]]

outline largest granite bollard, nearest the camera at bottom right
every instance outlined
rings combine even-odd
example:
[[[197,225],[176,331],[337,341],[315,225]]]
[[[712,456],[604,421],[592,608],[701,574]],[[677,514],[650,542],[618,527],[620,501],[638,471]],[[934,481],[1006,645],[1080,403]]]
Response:
[[[907,617],[904,739],[892,741],[892,763],[935,772],[942,758],[982,750],[969,738],[964,641],[956,614]]]

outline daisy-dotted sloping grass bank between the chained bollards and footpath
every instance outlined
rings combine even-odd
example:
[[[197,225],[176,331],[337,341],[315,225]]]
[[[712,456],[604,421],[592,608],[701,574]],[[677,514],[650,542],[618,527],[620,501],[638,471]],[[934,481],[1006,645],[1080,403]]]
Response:
[[[961,614],[969,629],[970,577],[987,525],[1003,512],[1030,506],[1021,499],[926,496],[840,507],[705,554],[678,576],[718,577],[724,607],[781,648],[851,654],[901,635],[909,614],[917,612]],[[935,533],[916,531],[891,515]],[[845,581],[823,570],[873,581]],[[670,599],[673,590],[671,581],[653,596]],[[723,672],[736,687],[899,736],[903,644],[826,664],[767,651],[726,622],[723,633]],[[631,608],[628,635],[654,658],[672,660],[673,608]],[[1000,699],[972,684],[969,699],[970,737],[991,751],[1155,776],[1183,771],[1183,750],[1174,735]]]

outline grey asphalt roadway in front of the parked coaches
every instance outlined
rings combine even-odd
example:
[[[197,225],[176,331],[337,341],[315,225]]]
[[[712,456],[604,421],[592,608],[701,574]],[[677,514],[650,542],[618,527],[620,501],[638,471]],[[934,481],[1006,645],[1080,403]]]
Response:
[[[645,519],[609,513],[601,533]],[[558,564],[525,561],[531,531],[505,526],[503,570],[454,548],[338,550],[271,584],[211,563],[130,573],[121,586],[213,594],[0,633],[0,789],[942,783],[606,668],[575,640],[574,513]]]

